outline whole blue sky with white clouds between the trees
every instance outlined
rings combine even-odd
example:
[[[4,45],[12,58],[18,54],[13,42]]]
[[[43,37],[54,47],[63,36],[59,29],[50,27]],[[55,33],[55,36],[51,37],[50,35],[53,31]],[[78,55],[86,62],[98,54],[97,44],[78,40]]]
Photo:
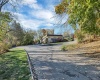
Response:
[[[25,29],[54,29],[57,34],[64,30],[62,30],[61,27],[57,27],[60,24],[55,26],[57,21],[60,21],[60,18],[55,18],[57,15],[54,8],[60,1],[61,0],[21,0],[16,11],[11,11]],[[65,22],[67,18],[68,16],[65,16],[62,23]]]

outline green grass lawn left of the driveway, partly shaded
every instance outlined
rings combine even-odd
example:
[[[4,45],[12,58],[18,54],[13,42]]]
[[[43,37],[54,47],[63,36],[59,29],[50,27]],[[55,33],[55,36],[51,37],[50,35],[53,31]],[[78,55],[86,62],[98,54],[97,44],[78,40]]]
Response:
[[[27,54],[22,49],[12,49],[0,55],[0,80],[31,80]]]

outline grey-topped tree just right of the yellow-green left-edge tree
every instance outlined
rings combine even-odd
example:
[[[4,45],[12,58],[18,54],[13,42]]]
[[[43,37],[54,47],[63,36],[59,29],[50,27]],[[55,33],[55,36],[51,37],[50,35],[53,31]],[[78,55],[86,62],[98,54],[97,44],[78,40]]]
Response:
[[[23,43],[23,38],[24,38],[24,30],[21,27],[19,23],[16,21],[12,22],[12,25],[10,27],[10,36],[13,37],[12,43],[13,45],[21,45]]]

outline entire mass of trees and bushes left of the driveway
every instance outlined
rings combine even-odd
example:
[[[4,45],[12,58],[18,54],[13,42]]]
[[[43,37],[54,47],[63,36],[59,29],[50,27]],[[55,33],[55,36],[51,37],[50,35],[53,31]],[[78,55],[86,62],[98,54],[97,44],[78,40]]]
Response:
[[[17,1],[20,2],[20,0],[0,0],[0,53],[14,46],[33,43],[34,34],[32,32],[24,30],[9,12],[1,12],[6,4],[15,7]]]

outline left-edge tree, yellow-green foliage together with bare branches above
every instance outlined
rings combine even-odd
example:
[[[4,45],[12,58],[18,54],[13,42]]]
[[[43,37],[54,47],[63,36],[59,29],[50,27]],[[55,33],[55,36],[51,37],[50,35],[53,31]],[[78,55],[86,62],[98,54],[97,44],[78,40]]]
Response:
[[[10,23],[13,20],[9,12],[1,12],[1,10],[8,3],[15,7],[14,1],[16,0],[0,0],[0,53],[7,51],[9,48],[8,33],[10,31]]]

